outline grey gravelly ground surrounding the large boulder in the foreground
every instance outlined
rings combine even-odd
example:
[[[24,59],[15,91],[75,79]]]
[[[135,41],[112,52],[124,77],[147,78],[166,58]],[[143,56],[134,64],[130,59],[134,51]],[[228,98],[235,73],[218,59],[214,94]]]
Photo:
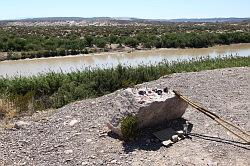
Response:
[[[139,86],[168,86],[244,128],[250,129],[250,68],[180,73]],[[123,144],[105,122],[116,110],[115,92],[20,120],[19,130],[0,129],[0,165],[249,165],[250,147],[188,108],[191,139],[166,148],[147,135]]]

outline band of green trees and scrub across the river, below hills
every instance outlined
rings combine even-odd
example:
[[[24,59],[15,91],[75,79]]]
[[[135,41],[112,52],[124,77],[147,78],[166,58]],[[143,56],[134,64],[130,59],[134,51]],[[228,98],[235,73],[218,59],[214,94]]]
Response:
[[[0,27],[0,52],[8,52],[7,59],[22,59],[109,51],[110,44],[149,49],[250,43],[249,28],[243,25],[218,24],[220,31],[212,25]]]

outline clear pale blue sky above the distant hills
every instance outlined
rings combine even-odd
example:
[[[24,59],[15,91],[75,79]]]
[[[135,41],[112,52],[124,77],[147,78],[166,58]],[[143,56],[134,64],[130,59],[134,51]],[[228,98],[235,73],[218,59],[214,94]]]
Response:
[[[250,0],[0,0],[0,19],[250,17]]]

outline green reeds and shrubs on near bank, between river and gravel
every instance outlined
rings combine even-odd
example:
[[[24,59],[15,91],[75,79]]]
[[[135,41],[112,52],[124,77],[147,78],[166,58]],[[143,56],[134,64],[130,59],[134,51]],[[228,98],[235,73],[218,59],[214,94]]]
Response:
[[[191,61],[162,62],[156,66],[125,67],[48,73],[32,77],[0,79],[0,95],[8,96],[21,114],[60,108],[70,102],[94,98],[118,89],[152,81],[161,76],[227,67],[250,66],[248,57],[197,58]]]

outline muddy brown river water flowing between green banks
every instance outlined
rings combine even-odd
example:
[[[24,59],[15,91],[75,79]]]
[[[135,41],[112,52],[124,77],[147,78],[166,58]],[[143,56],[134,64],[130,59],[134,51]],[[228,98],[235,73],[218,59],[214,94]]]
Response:
[[[87,54],[65,57],[51,57],[0,62],[0,77],[31,76],[50,71],[71,72],[91,68],[109,68],[122,65],[137,66],[140,64],[156,64],[162,60],[185,60],[196,57],[216,57],[224,55],[250,56],[250,43],[214,46],[209,48],[157,49],[134,51],[131,53],[114,52]]]

